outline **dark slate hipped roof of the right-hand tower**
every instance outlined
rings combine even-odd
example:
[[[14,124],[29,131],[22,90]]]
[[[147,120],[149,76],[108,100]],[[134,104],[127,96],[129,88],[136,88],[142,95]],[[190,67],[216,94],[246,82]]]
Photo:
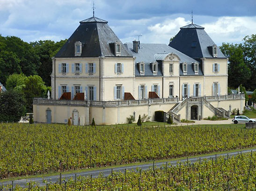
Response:
[[[169,43],[169,46],[188,55],[196,60],[201,58],[213,58],[211,47],[215,45],[210,36],[205,32],[205,28],[190,24],[180,28],[178,34]],[[217,58],[226,58],[217,47]]]

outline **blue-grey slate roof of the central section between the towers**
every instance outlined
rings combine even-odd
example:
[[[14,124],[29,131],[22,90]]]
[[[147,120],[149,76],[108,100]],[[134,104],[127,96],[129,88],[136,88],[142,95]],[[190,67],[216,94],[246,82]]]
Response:
[[[167,44],[144,44],[140,43],[140,48],[138,53],[133,51],[132,43],[125,43],[125,47],[131,52],[131,54],[136,58],[135,64],[138,62],[145,63],[145,75],[139,74],[139,66],[135,65],[135,76],[162,76],[162,61],[161,59],[166,57],[169,53],[174,53],[181,59],[180,61],[180,75],[183,75],[182,64],[183,62],[187,63],[187,75],[195,75],[193,64],[197,62],[193,58],[190,58],[187,55],[179,52],[178,50],[169,47]],[[158,62],[158,71],[157,75],[153,75],[152,66],[150,63]],[[199,63],[198,75],[203,75],[202,68]]]

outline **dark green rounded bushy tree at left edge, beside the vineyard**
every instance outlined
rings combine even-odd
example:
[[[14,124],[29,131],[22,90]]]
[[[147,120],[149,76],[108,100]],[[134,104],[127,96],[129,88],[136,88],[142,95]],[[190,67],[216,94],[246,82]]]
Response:
[[[25,99],[14,90],[0,92],[0,121],[19,122],[26,113]]]

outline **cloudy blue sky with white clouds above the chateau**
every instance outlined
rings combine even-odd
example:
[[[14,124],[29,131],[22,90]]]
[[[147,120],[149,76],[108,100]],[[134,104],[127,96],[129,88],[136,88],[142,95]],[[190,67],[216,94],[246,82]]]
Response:
[[[94,0],[95,16],[124,42],[166,43],[191,23],[212,40],[240,43],[256,34],[256,0]],[[0,34],[23,41],[69,38],[79,21],[92,16],[93,0],[0,0]]]

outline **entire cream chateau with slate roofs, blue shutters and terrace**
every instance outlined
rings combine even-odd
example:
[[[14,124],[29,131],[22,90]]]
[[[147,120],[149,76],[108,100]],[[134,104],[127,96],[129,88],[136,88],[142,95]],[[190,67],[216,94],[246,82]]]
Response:
[[[34,121],[88,125],[127,123],[133,115],[154,120],[227,117],[243,110],[244,95],[227,95],[227,58],[204,27],[180,28],[167,44],[123,44],[108,22],[80,21],[52,58],[51,98],[35,98]]]

